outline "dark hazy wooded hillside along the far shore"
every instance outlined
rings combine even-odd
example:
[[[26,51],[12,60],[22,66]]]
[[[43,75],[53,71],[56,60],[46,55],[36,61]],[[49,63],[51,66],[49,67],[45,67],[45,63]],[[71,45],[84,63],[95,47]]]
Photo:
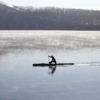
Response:
[[[0,3],[0,30],[100,30],[100,11]]]

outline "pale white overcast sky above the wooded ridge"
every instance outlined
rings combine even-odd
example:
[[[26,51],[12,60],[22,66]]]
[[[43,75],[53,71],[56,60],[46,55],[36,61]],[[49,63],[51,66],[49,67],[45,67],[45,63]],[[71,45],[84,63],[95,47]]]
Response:
[[[9,6],[61,7],[100,10],[100,0],[0,0]]]

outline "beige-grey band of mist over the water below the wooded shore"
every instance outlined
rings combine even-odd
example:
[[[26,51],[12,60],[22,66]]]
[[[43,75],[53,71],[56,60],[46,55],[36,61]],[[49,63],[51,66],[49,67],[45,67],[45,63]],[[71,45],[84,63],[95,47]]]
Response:
[[[99,31],[1,31],[0,50],[99,48],[99,40]]]

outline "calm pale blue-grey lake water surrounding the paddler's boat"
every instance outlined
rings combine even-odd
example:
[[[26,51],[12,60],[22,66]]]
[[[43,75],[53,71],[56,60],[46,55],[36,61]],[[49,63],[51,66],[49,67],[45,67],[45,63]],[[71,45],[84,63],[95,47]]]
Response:
[[[51,74],[48,55],[59,66]],[[0,100],[99,100],[100,31],[0,31]]]

